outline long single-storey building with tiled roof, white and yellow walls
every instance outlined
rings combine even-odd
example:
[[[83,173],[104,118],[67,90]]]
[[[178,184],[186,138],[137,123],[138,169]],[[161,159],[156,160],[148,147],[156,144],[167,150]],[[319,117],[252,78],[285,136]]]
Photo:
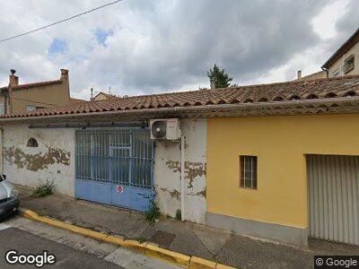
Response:
[[[173,92],[0,117],[2,172],[101,204],[306,246],[359,245],[359,76]],[[175,140],[151,120],[180,121]]]

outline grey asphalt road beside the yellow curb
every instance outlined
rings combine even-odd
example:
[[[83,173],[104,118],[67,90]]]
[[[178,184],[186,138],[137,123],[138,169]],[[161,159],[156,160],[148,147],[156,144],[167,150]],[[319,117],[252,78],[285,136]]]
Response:
[[[55,255],[56,264],[45,265],[44,268],[179,268],[127,248],[89,239],[21,216],[0,222],[0,268],[36,268],[35,265],[7,264],[5,253],[9,250],[27,255],[42,254],[45,250]]]

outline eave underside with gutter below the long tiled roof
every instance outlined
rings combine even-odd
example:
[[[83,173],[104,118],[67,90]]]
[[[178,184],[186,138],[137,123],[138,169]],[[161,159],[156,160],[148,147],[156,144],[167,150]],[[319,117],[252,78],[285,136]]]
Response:
[[[320,100],[290,100],[196,107],[147,108],[96,113],[63,114],[39,117],[1,118],[0,126],[54,122],[130,121],[151,118],[256,117],[275,115],[359,113],[359,97]]]

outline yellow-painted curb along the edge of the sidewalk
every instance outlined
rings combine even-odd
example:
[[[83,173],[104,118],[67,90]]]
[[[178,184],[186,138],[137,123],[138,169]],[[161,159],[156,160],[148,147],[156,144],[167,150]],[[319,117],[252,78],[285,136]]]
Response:
[[[131,250],[134,250],[138,253],[144,254],[146,256],[152,256],[155,258],[162,259],[164,261],[170,262],[175,265],[186,266],[187,268],[234,268],[228,265],[218,264],[214,261],[206,260],[197,256],[187,256],[174,252],[162,247],[157,247],[149,242],[139,243],[136,240],[126,240],[120,239],[115,236],[106,235],[99,231],[88,230],[82,227],[75,226],[73,224],[68,224],[63,221],[57,221],[50,219],[48,217],[39,216],[38,213],[35,213],[29,209],[20,209],[22,216],[33,221],[39,221],[50,226],[60,228],[63,230],[69,230],[76,234],[83,235],[84,237],[96,239],[101,242],[106,242],[109,244],[117,245],[119,247],[125,247]]]

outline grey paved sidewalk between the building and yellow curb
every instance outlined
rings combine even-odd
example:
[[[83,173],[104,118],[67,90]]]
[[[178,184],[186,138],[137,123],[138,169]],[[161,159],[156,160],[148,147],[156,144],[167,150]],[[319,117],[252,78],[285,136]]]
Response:
[[[242,268],[311,268],[315,255],[359,253],[359,247],[314,239],[310,240],[308,249],[288,247],[172,219],[150,224],[142,213],[74,200],[63,195],[34,198],[30,189],[18,189],[21,206],[41,215],[125,239],[147,240],[172,251],[215,260],[224,265]]]

